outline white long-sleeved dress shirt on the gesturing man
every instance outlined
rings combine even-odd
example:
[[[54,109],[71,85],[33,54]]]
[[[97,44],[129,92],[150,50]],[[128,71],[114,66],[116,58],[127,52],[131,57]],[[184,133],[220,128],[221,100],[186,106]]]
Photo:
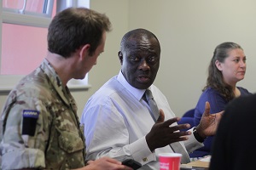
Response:
[[[149,87],[165,119],[175,117],[164,94],[154,85]],[[119,161],[131,158],[142,163],[140,169],[159,169],[158,154],[173,152],[167,145],[151,152],[145,136],[154,125],[148,104],[142,99],[146,89],[137,89],[125,80],[121,71],[96,91],[84,107],[86,160],[109,156]],[[176,125],[177,123],[173,123]],[[184,150],[203,146],[194,135],[181,142]]]

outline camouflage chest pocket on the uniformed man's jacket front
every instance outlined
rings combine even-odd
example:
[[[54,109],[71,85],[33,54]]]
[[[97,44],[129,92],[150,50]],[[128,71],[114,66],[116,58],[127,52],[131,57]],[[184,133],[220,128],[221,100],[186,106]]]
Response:
[[[67,151],[67,153],[84,149],[84,142],[76,133],[62,131],[58,141],[61,149]]]

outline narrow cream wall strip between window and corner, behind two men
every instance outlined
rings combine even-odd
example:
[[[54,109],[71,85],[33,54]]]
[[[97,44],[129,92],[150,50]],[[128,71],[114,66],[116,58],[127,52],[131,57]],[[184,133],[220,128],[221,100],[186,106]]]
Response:
[[[92,85],[88,91],[72,92],[78,104],[78,114],[81,115],[86,101],[110,77],[118,74],[120,69],[118,52],[119,42],[128,30],[128,0],[90,0],[90,8],[107,14],[112,23],[113,30],[108,32],[104,53],[97,59],[97,64],[89,73],[89,83]]]

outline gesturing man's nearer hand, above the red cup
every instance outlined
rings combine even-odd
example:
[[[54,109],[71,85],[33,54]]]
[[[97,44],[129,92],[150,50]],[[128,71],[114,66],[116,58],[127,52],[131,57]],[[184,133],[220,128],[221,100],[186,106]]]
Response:
[[[172,126],[172,123],[180,121],[179,117],[165,120],[164,111],[160,109],[160,116],[150,132],[146,135],[146,141],[151,151],[156,148],[164,147],[167,144],[187,140],[186,135],[191,134],[190,132],[180,132],[183,128],[189,128],[189,124],[180,124]]]

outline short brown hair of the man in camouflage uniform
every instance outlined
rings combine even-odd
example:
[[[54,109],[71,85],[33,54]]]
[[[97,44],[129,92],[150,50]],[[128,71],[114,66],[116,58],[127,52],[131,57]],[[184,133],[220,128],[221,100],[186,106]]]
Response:
[[[56,14],[48,29],[48,50],[67,58],[85,44],[90,55],[102,42],[102,33],[111,31],[106,14],[89,8],[67,8]]]

